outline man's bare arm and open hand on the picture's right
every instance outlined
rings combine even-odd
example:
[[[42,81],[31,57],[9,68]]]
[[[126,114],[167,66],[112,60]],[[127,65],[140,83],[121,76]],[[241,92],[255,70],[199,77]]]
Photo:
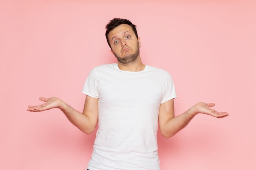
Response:
[[[215,104],[214,103],[203,103],[200,102],[186,112],[182,113],[181,115],[175,117],[174,116],[174,102],[173,99],[168,100],[160,105],[159,109],[159,128],[162,135],[165,138],[172,137],[177,132],[179,132],[182,128],[184,128],[189,121],[198,113],[203,113],[207,115],[211,115],[213,117],[222,118],[227,117],[227,112],[217,112],[216,110],[212,109]]]

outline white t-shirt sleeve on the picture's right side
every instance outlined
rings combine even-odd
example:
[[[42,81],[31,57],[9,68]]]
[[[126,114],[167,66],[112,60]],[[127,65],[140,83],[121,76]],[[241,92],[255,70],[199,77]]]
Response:
[[[176,97],[177,97],[177,95],[175,92],[173,78],[171,77],[171,75],[168,72],[166,72],[166,79],[164,82],[164,97],[162,99],[161,104],[168,100],[174,99]]]

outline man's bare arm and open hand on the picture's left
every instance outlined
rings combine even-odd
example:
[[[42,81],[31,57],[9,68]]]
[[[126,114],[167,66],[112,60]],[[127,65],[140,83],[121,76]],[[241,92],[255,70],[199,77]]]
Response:
[[[28,106],[27,111],[41,112],[52,108],[59,108],[66,115],[67,119],[78,127],[82,132],[89,135],[91,134],[98,122],[98,98],[86,96],[83,113],[75,110],[70,105],[57,97],[39,98],[41,101],[46,102],[38,106]]]

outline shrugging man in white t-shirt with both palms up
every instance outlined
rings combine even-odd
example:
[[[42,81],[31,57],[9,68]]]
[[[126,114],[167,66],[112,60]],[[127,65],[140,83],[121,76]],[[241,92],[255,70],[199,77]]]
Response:
[[[43,98],[28,111],[60,108],[85,134],[99,129],[94,141],[89,170],[159,170],[157,124],[169,138],[184,128],[198,113],[226,117],[211,107],[198,103],[174,116],[176,97],[171,75],[141,62],[140,38],[129,20],[114,18],[106,26],[106,38],[118,64],[94,68],[83,87],[86,94],[83,113],[56,97]]]

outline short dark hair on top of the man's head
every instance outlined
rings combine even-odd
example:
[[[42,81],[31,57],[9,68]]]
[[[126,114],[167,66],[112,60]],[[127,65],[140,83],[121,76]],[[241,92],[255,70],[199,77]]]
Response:
[[[138,39],[138,33],[137,33],[137,30],[136,30],[136,25],[135,24],[132,24],[132,22],[130,22],[129,20],[126,20],[126,19],[122,19],[122,18],[114,18],[112,20],[110,20],[108,22],[108,24],[106,25],[106,38],[107,38],[107,42],[108,42],[108,45],[110,46],[110,42],[108,40],[108,34],[111,30],[115,29],[115,27],[121,25],[121,24],[128,24],[132,27],[132,30],[133,32],[135,33],[137,39]],[[111,49],[111,46],[110,46],[110,49]]]

